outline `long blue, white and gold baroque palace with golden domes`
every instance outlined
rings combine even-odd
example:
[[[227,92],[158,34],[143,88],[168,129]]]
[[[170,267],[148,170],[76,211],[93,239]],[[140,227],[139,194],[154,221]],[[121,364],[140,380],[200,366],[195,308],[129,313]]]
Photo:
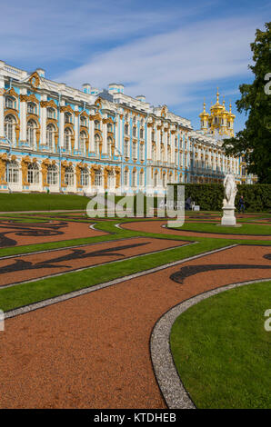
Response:
[[[225,103],[200,114],[201,130],[123,84],[82,90],[0,61],[0,192],[159,194],[172,183],[220,183],[226,173],[253,184],[242,158],[228,157],[234,134]]]

